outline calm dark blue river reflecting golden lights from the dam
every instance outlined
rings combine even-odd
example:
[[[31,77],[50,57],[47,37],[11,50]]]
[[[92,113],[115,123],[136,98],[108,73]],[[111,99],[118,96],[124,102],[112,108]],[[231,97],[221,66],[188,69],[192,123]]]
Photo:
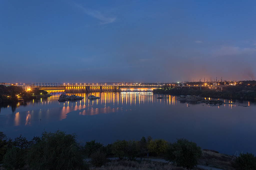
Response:
[[[70,94],[68,94],[70,95]],[[0,131],[14,139],[28,140],[47,132],[76,133],[78,140],[104,144],[117,139],[139,140],[142,136],[174,142],[187,138],[202,149],[226,154],[256,154],[256,103],[207,106],[168,99],[156,99],[151,92],[76,94],[83,100],[59,102],[59,95],[1,108]],[[89,100],[88,96],[101,97]],[[242,107],[246,105],[249,107]]]

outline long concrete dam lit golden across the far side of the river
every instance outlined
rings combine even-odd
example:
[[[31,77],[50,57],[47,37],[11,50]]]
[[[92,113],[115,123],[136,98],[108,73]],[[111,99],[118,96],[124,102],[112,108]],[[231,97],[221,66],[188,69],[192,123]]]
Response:
[[[61,85],[56,87],[34,86],[39,90],[54,93],[92,93],[92,92],[115,92],[115,91],[153,91],[162,85]]]

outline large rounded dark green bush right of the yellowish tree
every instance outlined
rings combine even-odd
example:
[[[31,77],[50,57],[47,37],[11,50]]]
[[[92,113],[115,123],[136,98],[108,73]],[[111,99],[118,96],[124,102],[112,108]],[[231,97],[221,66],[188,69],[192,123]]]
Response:
[[[165,160],[173,162],[177,166],[193,168],[197,165],[198,159],[201,157],[202,151],[194,142],[187,139],[177,139],[173,144],[169,144]]]

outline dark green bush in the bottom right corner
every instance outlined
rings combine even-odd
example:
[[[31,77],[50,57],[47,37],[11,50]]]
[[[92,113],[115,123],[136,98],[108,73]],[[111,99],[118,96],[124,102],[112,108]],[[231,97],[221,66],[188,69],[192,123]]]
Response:
[[[240,153],[240,155],[235,160],[235,166],[238,170],[256,169],[256,157],[252,153]]]

